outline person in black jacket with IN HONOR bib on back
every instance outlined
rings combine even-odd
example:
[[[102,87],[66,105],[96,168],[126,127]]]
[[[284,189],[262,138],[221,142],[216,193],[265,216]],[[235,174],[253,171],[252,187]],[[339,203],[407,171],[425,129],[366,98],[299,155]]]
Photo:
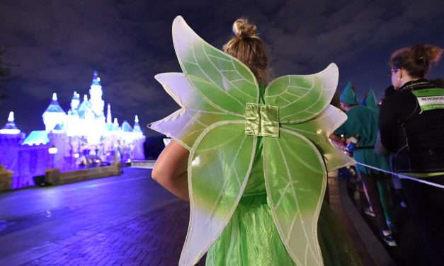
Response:
[[[416,45],[395,51],[389,60],[397,90],[382,103],[381,143],[394,154],[397,173],[444,185],[444,87],[425,79],[443,49]],[[420,243],[430,265],[444,265],[444,190],[402,180]]]

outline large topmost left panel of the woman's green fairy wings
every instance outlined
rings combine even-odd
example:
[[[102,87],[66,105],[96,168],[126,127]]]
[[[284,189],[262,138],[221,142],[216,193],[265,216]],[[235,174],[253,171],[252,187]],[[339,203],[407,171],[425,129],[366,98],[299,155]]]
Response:
[[[258,83],[251,70],[205,42],[181,16],[173,21],[173,44],[183,74],[209,103],[239,116],[246,103],[258,103]]]

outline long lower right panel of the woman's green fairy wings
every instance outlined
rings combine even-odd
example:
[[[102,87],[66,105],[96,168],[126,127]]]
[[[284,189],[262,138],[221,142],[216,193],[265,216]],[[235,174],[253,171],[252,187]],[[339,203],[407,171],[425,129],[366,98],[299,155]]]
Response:
[[[273,220],[296,265],[323,265],[317,219],[326,187],[321,154],[307,138],[280,129],[264,138],[263,168]]]

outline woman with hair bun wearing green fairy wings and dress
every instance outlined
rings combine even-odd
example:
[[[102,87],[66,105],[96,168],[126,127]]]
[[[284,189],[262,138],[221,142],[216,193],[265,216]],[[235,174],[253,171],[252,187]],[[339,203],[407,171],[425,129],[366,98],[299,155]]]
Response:
[[[346,115],[329,105],[338,67],[266,83],[256,26],[234,22],[224,52],[178,16],[183,73],[156,75],[181,106],[151,129],[171,136],[154,180],[190,201],[179,265],[360,265],[327,205],[327,170],[353,163],[328,137]]]

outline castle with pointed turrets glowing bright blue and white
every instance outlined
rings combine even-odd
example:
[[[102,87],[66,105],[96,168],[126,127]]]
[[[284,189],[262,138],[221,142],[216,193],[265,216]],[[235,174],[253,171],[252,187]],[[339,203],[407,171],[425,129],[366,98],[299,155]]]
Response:
[[[94,71],[88,95],[81,100],[74,91],[68,112],[57,101],[57,94],[42,114],[45,130],[35,130],[26,137],[9,113],[0,129],[0,165],[13,171],[12,188],[33,184],[35,175],[48,168],[74,170],[104,162],[143,159],[144,135],[135,116],[133,127],[119,125],[108,103],[106,115],[101,79]]]

